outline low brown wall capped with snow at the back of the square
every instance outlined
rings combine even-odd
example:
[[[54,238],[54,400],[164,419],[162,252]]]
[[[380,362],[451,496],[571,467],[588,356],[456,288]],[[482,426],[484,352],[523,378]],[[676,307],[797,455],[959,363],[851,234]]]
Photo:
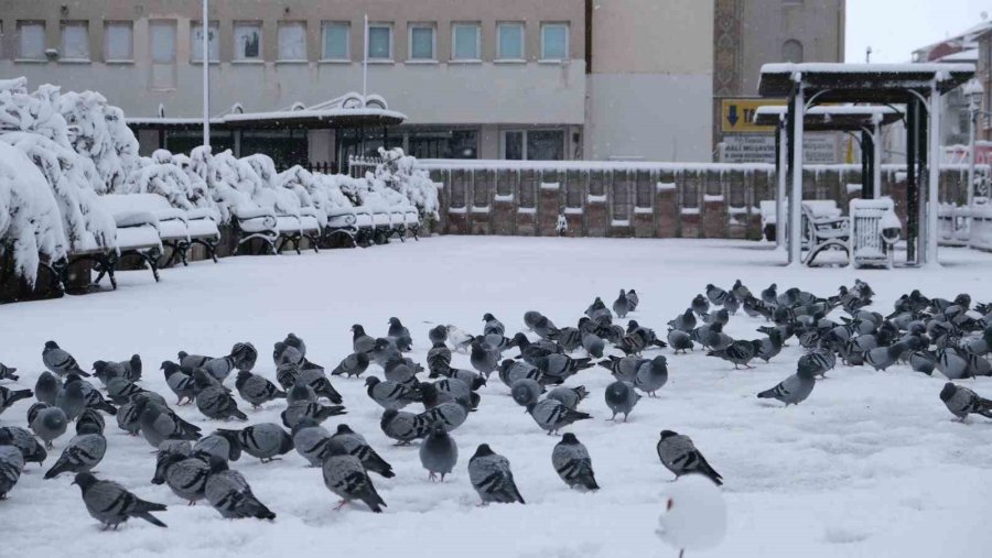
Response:
[[[353,169],[362,168],[356,161]],[[762,237],[759,204],[774,200],[776,174],[766,164],[520,162],[421,160],[443,185],[435,231],[452,234],[576,237]],[[979,167],[983,176],[990,167]],[[942,165],[940,200],[967,199],[967,165]],[[809,165],[804,199],[847,208],[861,194],[860,165]],[[883,165],[882,194],[906,223],[906,167]]]

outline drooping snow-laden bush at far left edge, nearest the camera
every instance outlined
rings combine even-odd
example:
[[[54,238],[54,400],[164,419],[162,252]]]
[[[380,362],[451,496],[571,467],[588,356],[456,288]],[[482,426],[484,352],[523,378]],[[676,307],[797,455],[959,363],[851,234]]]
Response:
[[[12,252],[14,274],[33,286],[40,255],[65,258],[65,241],[45,177],[21,150],[0,142],[0,252]]]

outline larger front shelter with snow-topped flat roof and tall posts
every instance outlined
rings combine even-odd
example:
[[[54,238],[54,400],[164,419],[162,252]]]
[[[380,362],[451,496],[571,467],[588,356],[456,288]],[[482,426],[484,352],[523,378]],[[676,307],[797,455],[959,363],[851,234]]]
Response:
[[[758,92],[789,100],[786,139],[791,154],[789,196],[789,263],[800,265],[802,203],[802,134],[806,112],[823,103],[869,102],[906,106],[907,259],[937,264],[937,208],[940,162],[941,96],[971,79],[973,64],[765,64]],[[927,176],[927,189],[919,183]],[[925,195],[924,195],[925,194]],[[920,228],[919,223],[925,223]],[[925,250],[918,250],[918,245]]]

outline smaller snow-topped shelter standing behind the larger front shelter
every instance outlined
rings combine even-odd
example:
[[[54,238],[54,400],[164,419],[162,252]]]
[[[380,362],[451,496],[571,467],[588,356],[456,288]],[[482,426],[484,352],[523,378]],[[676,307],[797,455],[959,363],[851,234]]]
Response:
[[[788,110],[781,105],[758,107],[754,112],[754,123],[775,127],[775,175],[778,187],[775,192],[776,227],[775,243],[783,247],[786,241],[786,168],[788,156],[783,146],[787,141]],[[813,107],[806,112],[804,127],[811,132],[861,132],[861,197],[877,198],[882,194],[882,128],[903,119],[903,113],[894,107],[829,105]],[[856,136],[855,136],[856,138]]]

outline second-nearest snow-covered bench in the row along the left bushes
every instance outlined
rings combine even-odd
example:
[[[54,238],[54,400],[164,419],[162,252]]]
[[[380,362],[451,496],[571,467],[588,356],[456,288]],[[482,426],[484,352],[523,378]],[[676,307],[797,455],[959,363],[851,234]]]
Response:
[[[155,216],[162,245],[172,250],[162,267],[168,267],[176,259],[183,265],[188,265],[187,253],[193,244],[204,247],[214,263],[217,262],[216,247],[220,240],[220,230],[214,222],[212,210],[172,207],[168,199],[158,194],[111,194],[101,199],[114,211],[139,210]]]

